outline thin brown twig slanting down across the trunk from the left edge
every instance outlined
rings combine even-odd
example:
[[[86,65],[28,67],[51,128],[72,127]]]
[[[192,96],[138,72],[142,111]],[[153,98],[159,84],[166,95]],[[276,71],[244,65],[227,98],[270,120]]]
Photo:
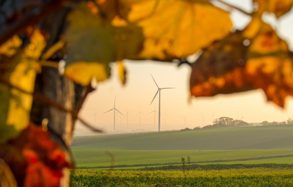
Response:
[[[7,82],[6,80],[4,80],[3,78],[0,78],[0,83],[8,86],[9,88],[13,88],[13,89],[16,89],[17,91],[20,91],[22,93],[25,93],[25,94],[29,94],[29,95],[32,95],[33,96],[33,99],[35,99],[36,101],[39,101],[41,103],[44,103],[46,105],[49,105],[49,106],[53,106],[61,111],[64,111],[64,112],[69,112],[71,113],[71,115],[79,120],[82,124],[84,124],[86,127],[88,127],[89,129],[95,131],[95,132],[102,132],[102,130],[100,129],[96,129],[95,127],[92,127],[90,124],[86,123],[84,120],[82,120],[81,118],[79,118],[77,116],[78,114],[78,111],[76,110],[69,110],[67,108],[65,108],[64,106],[60,105],[59,103],[57,103],[56,101],[54,101],[53,99],[49,98],[49,97],[46,97],[40,93],[31,93],[31,92],[28,92],[28,91],[25,91],[17,86],[13,86],[11,85],[9,82]]]

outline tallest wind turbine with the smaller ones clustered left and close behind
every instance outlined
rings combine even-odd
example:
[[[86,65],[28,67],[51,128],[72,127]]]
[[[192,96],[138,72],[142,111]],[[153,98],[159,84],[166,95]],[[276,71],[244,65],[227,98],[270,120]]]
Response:
[[[158,84],[156,83],[156,81],[155,81],[155,79],[154,79],[154,77],[151,75],[151,77],[153,78],[153,80],[154,80],[154,82],[155,82],[155,84],[156,84],[156,86],[158,87],[158,90],[157,90],[157,92],[156,92],[156,94],[155,94],[155,96],[154,96],[154,98],[153,98],[153,100],[151,101],[151,103],[153,103],[153,101],[154,101],[154,99],[156,98],[156,96],[157,96],[157,94],[159,93],[159,112],[157,112],[156,111],[156,106],[155,106],[155,110],[154,111],[152,111],[152,112],[154,112],[154,128],[155,128],[155,122],[156,122],[156,113],[159,115],[159,122],[158,122],[158,131],[160,131],[160,127],[161,127],[161,124],[160,124],[160,121],[161,121],[161,90],[162,89],[172,89],[172,88],[160,88],[159,86],[158,86]],[[110,111],[112,111],[112,110],[114,110],[114,133],[115,133],[115,111],[117,111],[117,112],[119,112],[121,115],[123,115],[119,110],[117,110],[116,108],[115,108],[115,101],[116,101],[116,96],[115,96],[115,99],[114,99],[114,108],[112,108],[112,109],[110,109],[110,110],[108,110],[107,112],[110,112]],[[151,105],[151,104],[150,104]],[[125,110],[126,110],[126,108],[125,108]],[[105,113],[107,113],[107,112],[104,112],[103,114],[105,114]],[[149,114],[150,113],[152,113],[152,112],[149,112]],[[167,111],[166,111],[167,112]],[[165,114],[165,123],[166,123],[166,112],[164,113]],[[126,114],[125,114],[125,116],[127,115],[127,127],[128,127],[128,111],[126,110]],[[140,108],[139,108],[139,126],[140,126],[140,114],[143,114],[142,112],[140,112]],[[138,115],[137,114],[137,115]],[[95,123],[96,123],[96,112],[93,114],[93,115],[95,115]],[[124,116],[124,115],[123,115]],[[185,119],[186,120],[186,119]]]

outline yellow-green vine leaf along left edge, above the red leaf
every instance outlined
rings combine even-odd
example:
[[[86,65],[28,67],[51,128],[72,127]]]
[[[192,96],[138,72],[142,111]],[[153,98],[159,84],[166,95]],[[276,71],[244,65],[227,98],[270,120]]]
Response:
[[[13,37],[2,47],[9,43],[15,46],[21,44],[19,39]],[[39,70],[38,59],[42,50],[46,46],[45,37],[38,29],[33,30],[30,36],[30,43],[16,53],[8,50],[2,55],[2,70],[4,73],[1,78],[9,82],[12,86],[21,88],[27,92],[33,92],[35,85],[35,76]],[[9,48],[9,47],[8,47]],[[13,54],[14,53],[14,54]],[[13,54],[13,55],[12,55]],[[7,58],[9,57],[10,58]],[[30,94],[23,93],[17,89],[0,85],[1,90],[1,132],[0,142],[3,143],[10,138],[15,137],[20,131],[25,129],[30,120],[30,109],[33,97]]]

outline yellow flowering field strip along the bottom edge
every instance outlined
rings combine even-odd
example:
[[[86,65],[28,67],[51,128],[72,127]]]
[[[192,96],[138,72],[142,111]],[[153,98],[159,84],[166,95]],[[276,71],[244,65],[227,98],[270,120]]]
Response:
[[[186,174],[186,172],[185,172]],[[252,168],[223,170],[190,170],[184,182],[182,170],[70,170],[70,186],[117,187],[269,187],[293,186],[293,170],[289,168]]]

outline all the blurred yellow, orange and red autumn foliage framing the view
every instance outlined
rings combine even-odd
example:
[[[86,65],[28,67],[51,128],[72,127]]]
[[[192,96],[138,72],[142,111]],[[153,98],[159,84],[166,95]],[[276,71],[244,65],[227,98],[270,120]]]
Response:
[[[8,164],[7,171],[19,186],[59,185],[69,161],[49,132],[32,124],[32,103],[70,114],[72,134],[79,109],[93,90],[91,81],[108,79],[110,62],[117,63],[123,84],[124,59],[188,63],[193,96],[263,89],[268,101],[284,107],[285,98],[293,96],[293,53],[262,15],[280,18],[293,1],[251,4],[252,11],[246,12],[221,0],[37,0],[13,7],[3,3],[8,13],[0,25],[0,159]],[[52,42],[53,33],[40,25],[58,10],[65,10],[65,16]],[[251,22],[234,30],[231,10],[250,16]],[[195,53],[199,58],[188,62],[186,57]],[[59,77],[84,86],[75,108],[34,92],[43,67],[59,69]]]

